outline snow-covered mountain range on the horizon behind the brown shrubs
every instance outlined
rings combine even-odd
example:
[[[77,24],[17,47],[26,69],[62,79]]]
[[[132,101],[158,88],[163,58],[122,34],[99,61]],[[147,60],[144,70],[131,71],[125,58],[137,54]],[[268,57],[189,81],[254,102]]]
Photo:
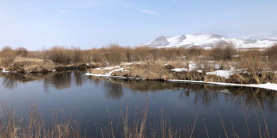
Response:
[[[268,35],[269,37],[273,35]],[[269,38],[249,38],[240,39],[233,37],[226,37],[218,34],[186,34],[178,35],[174,37],[160,36],[148,43],[143,45],[148,45],[155,48],[173,48],[173,47],[190,47],[190,46],[200,46],[210,48],[216,46],[219,42],[233,42],[238,48],[250,48],[250,47],[268,47],[270,44],[277,42],[274,39]],[[265,37],[265,36],[264,36]],[[272,37],[274,38],[274,37]]]

